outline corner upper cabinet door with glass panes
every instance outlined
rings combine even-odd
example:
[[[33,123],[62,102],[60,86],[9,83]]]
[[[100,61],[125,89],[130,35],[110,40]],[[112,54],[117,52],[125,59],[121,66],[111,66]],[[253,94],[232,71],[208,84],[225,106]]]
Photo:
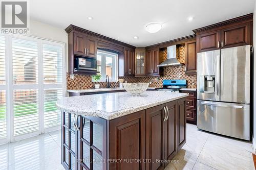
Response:
[[[145,49],[136,48],[135,50],[135,77],[145,76]]]

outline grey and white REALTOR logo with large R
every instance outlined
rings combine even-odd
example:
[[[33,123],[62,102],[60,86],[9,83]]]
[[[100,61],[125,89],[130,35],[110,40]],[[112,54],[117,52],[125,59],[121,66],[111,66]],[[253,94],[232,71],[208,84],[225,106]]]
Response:
[[[28,34],[28,2],[1,2],[1,33]]]

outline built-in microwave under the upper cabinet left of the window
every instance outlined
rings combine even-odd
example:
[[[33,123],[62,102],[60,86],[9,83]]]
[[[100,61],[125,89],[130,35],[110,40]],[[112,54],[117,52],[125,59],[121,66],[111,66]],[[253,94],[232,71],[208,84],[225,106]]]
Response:
[[[75,69],[97,71],[97,59],[91,57],[75,57]]]

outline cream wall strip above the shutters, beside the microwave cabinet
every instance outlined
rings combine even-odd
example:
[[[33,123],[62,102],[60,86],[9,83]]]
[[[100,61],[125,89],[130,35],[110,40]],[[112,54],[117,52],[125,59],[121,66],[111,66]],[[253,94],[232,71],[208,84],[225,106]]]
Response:
[[[35,20],[30,20],[29,29],[30,36],[65,43],[66,70],[68,70],[68,34],[66,31]]]

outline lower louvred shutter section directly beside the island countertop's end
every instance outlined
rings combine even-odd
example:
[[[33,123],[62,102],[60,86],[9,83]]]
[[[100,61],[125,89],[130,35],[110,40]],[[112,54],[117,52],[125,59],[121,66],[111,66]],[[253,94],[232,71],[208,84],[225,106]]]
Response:
[[[55,107],[58,99],[62,98],[62,89],[45,89],[44,94],[44,121],[45,128],[60,124],[60,111]]]

